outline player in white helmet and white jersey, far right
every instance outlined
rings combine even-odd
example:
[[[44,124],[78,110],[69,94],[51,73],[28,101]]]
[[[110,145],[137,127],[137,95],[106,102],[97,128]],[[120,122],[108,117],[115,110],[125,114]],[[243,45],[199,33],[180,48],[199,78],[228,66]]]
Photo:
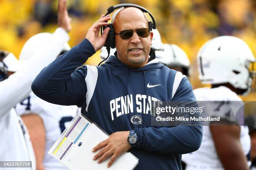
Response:
[[[210,105],[205,113],[220,117],[220,122],[204,126],[200,149],[182,155],[186,170],[248,170],[250,137],[248,128],[239,126],[243,125],[244,110],[238,95],[246,95],[251,89],[249,64],[255,58],[243,40],[221,36],[206,42],[197,59],[199,78],[211,88],[196,89],[195,96],[198,101],[209,101],[203,102]]]

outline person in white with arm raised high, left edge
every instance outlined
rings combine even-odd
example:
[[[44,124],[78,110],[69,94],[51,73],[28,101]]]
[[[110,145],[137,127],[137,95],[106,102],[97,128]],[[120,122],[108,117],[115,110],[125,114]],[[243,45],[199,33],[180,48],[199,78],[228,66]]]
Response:
[[[60,2],[60,6],[61,6]],[[31,83],[36,75],[53,61],[69,39],[70,19],[64,10],[59,9],[58,26],[49,42],[41,50],[33,54],[20,69],[8,77],[7,69],[10,57],[6,52],[1,52],[0,65],[2,80],[0,82],[0,161],[32,161],[35,168],[34,154],[29,136],[22,120],[13,107],[31,92]],[[29,69],[28,69],[29,68]],[[31,169],[31,168],[30,168]]]

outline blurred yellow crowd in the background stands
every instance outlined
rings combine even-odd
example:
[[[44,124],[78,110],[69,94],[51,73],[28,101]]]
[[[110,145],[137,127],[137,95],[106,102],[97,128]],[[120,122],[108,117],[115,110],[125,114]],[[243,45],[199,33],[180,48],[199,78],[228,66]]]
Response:
[[[108,7],[134,3],[146,7],[156,20],[164,43],[181,47],[191,62],[193,88],[202,87],[198,79],[196,55],[209,39],[233,35],[248,43],[256,56],[256,0],[67,0],[72,18],[69,45],[81,42]],[[0,0],[0,49],[16,57],[29,37],[57,28],[58,0]],[[99,52],[87,64],[97,65]],[[256,101],[251,93],[243,100]]]

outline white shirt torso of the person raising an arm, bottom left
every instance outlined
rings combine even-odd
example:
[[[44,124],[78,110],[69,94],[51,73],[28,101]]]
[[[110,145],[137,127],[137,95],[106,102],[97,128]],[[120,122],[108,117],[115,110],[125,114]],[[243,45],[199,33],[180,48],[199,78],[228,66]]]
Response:
[[[35,156],[28,131],[14,109],[0,118],[0,132],[0,161],[32,161],[32,169],[35,169]]]

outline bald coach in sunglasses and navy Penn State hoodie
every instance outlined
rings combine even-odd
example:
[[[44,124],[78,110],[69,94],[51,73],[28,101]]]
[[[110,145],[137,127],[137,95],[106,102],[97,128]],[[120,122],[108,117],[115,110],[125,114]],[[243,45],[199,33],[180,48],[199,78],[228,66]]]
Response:
[[[121,8],[113,16],[116,56],[110,56],[102,67],[80,67],[105,43],[109,28],[101,37],[98,34],[110,15],[102,15],[85,40],[42,70],[32,90],[48,102],[82,107],[84,115],[111,134],[92,148],[92,152],[100,150],[93,158],[98,163],[111,157],[110,167],[129,150],[139,159],[136,169],[181,169],[180,154],[200,147],[202,127],[151,127],[155,115],[149,108],[151,101],[195,101],[192,86],[181,73],[157,60],[148,62],[153,33],[140,9]],[[131,37],[121,39],[120,31],[130,29]],[[139,37],[139,31],[147,36]]]

